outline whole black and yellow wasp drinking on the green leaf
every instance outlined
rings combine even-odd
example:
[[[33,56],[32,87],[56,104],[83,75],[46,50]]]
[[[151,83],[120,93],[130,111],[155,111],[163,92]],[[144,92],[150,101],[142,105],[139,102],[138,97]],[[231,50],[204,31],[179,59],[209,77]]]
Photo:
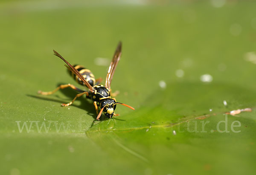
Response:
[[[116,65],[119,62],[119,59],[121,56],[121,48],[122,48],[122,43],[119,42],[119,44],[116,48],[116,52],[113,56],[112,62],[108,68],[105,86],[99,85],[99,83],[102,81],[102,79],[95,80],[94,75],[90,70],[85,69],[81,65],[74,65],[74,66],[70,65],[70,63],[67,62],[60,54],[58,54],[58,52],[53,50],[53,52],[56,56],[58,56],[64,62],[67,63],[67,65],[65,65],[65,66],[69,69],[70,75],[73,76],[73,78],[79,84],[87,86],[87,88],[89,90],[84,91],[79,88],[76,88],[74,85],[67,84],[67,85],[60,85],[58,88],[56,88],[55,90],[52,90],[50,92],[42,92],[41,90],[39,90],[38,93],[42,94],[42,95],[49,95],[49,94],[55,93],[59,89],[64,89],[64,88],[70,87],[80,93],[76,95],[76,97],[72,100],[72,102],[67,103],[67,104],[63,103],[63,104],[61,104],[61,106],[69,106],[76,100],[77,97],[80,97],[85,94],[88,99],[93,100],[93,104],[96,109],[96,113],[98,115],[96,118],[97,120],[99,120],[102,112],[108,118],[112,118],[113,115],[117,116],[118,114],[114,113],[114,110],[116,109],[116,104],[122,104],[122,105],[134,110],[133,107],[131,107],[127,104],[116,102],[115,98],[111,98],[111,95],[114,96],[115,93],[113,93],[113,94],[111,93],[110,85],[111,85],[111,81],[113,78],[113,74],[116,69]],[[101,108],[100,112],[98,111],[98,107]]]

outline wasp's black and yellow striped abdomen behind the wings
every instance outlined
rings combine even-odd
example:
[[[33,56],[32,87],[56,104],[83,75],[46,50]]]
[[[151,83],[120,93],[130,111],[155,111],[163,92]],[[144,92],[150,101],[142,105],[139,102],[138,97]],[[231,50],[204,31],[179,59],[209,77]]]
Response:
[[[89,70],[84,68],[81,65],[73,65],[74,68],[76,68],[77,71],[79,71],[81,73],[81,75],[84,77],[84,79],[91,85],[94,86],[95,85],[95,77],[93,75],[93,73]],[[68,70],[68,72],[70,73],[70,75],[73,77],[73,79],[76,80],[76,82],[78,82],[80,85],[84,85],[84,82],[81,81],[81,79],[76,76],[73,72],[71,72],[70,70]]]

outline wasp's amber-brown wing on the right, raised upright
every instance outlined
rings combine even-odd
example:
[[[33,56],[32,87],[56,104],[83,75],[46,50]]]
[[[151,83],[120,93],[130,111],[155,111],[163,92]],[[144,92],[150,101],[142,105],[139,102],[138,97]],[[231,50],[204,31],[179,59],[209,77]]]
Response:
[[[111,81],[114,75],[114,72],[116,70],[116,65],[119,62],[120,56],[121,56],[121,49],[122,49],[122,42],[119,42],[116,48],[116,52],[113,56],[113,59],[110,63],[110,66],[108,68],[108,73],[106,77],[105,87],[110,89]]]

